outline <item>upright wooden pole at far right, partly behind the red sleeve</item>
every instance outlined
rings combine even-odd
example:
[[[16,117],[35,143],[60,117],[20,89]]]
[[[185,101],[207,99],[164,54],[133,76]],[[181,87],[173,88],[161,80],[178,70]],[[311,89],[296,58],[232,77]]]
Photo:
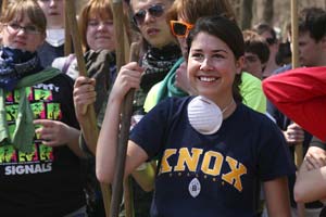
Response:
[[[298,44],[299,29],[298,29],[298,1],[291,0],[291,40],[292,40],[292,68],[300,66],[299,64],[299,44]],[[300,168],[303,161],[303,145],[302,143],[294,145],[294,164]],[[297,204],[299,217],[304,217],[304,203]]]

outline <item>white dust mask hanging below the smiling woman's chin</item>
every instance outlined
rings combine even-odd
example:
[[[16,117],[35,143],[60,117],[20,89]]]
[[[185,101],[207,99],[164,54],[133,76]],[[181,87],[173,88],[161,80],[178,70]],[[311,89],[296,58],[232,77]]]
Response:
[[[213,135],[221,128],[223,113],[234,103],[234,100],[223,110],[208,98],[198,95],[188,104],[190,125],[202,135]]]

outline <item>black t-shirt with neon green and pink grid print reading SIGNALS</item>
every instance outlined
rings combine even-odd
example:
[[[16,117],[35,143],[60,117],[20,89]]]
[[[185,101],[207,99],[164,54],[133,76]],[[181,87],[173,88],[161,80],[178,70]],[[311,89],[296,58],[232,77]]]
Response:
[[[77,128],[73,107],[73,80],[60,74],[26,88],[35,119],[63,122]],[[18,91],[5,93],[10,135],[15,129]],[[40,126],[35,126],[38,128]],[[66,146],[43,145],[35,135],[34,151],[23,153],[0,146],[1,216],[63,216],[84,205],[79,159]]]

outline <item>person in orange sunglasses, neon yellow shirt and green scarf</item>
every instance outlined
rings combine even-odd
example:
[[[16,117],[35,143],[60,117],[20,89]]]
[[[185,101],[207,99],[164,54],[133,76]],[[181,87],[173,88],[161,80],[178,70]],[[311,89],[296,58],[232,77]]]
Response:
[[[206,5],[210,5],[209,8]],[[171,7],[167,17],[171,20],[171,30],[179,42],[183,55],[187,56],[186,37],[196,21],[202,16],[223,14],[235,18],[231,5],[227,0],[178,0]],[[153,86],[145,102],[145,111],[149,112],[160,101],[168,97],[185,97],[193,94],[187,78],[187,62],[179,59],[168,72],[164,80]],[[239,89],[237,100],[261,113],[266,112],[266,98],[261,88],[261,80],[242,72],[236,75],[234,89]],[[240,94],[241,93],[241,94]]]

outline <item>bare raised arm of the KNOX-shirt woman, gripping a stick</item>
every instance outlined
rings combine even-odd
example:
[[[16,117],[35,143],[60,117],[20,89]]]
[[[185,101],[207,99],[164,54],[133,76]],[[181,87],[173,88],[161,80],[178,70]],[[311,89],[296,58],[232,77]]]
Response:
[[[97,146],[97,177],[100,182],[112,182],[116,162],[116,145],[123,100],[131,88],[139,88],[142,68],[131,62],[121,68],[109,97],[105,116]],[[125,176],[148,158],[135,142],[128,142]]]

